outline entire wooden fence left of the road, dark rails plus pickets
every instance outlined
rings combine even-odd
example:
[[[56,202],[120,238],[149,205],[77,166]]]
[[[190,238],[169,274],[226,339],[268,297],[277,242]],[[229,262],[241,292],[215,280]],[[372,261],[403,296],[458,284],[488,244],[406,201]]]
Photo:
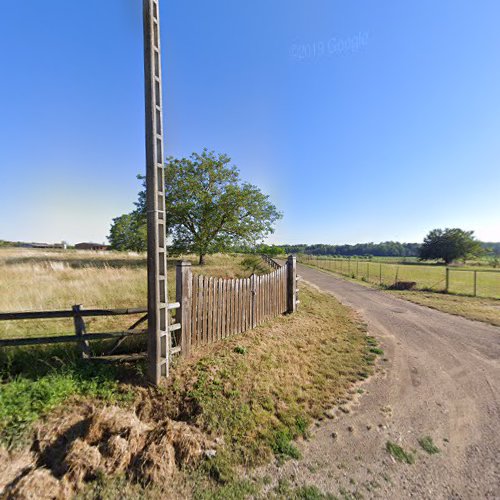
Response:
[[[177,302],[168,304],[168,309],[175,311],[175,319],[171,318],[169,325],[171,354],[188,356],[192,347],[246,332],[266,320],[297,310],[296,258],[288,257],[284,265],[269,257],[264,260],[273,269],[270,273],[244,279],[194,276],[190,262],[177,263]],[[74,342],[82,357],[90,358],[89,341],[114,339],[109,352],[112,354],[128,337],[147,338],[148,330],[138,328],[147,321],[147,314],[121,332],[87,333],[84,318],[142,313],[147,313],[147,308],[83,309],[80,305],[62,311],[0,313],[0,321],[72,318],[74,325],[74,334],[0,339],[0,347]]]

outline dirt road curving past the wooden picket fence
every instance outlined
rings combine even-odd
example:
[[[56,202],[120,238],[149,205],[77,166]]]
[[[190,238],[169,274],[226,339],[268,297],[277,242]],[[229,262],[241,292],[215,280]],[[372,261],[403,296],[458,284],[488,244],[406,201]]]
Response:
[[[339,498],[500,498],[500,328],[308,267],[299,274],[358,311],[384,355],[358,400],[300,443],[303,458],[267,474]],[[424,436],[439,453],[424,451]],[[415,463],[394,460],[388,441]]]

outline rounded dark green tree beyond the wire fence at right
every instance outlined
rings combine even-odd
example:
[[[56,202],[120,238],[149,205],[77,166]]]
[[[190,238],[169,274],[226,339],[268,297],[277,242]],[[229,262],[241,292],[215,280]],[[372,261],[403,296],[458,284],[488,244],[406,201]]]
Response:
[[[420,247],[420,260],[442,259],[450,264],[457,259],[475,257],[483,252],[481,243],[474,238],[474,231],[462,229],[433,229]]]

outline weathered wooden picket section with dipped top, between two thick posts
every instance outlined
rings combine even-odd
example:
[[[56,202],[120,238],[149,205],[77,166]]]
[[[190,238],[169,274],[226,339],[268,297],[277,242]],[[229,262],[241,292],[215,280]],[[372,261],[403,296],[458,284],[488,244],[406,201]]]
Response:
[[[177,264],[181,354],[188,355],[192,347],[244,333],[296,310],[295,257],[290,256],[283,266],[272,262],[274,271],[245,279],[194,276],[189,262]]]

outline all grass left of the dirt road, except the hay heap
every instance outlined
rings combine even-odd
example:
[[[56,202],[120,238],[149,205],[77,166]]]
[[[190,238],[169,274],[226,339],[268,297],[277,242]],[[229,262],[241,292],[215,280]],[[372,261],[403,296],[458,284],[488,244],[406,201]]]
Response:
[[[2,251],[0,310],[67,308],[72,303],[87,307],[142,305],[143,258],[106,257],[108,260],[90,252]],[[212,256],[206,267],[195,267],[194,272],[245,276],[247,271],[241,266],[241,257]],[[241,467],[272,459],[298,459],[296,438],[307,436],[314,419],[346,398],[353,383],[372,373],[376,341],[366,336],[351,311],[331,295],[305,285],[300,294],[297,314],[195,350],[191,358],[176,361],[172,377],[160,389],[151,389],[155,415],[187,421],[221,439],[213,459],[183,476],[195,497],[256,494],[259,486],[241,480]],[[66,325],[36,323],[17,322],[7,331],[0,325],[0,336],[55,333],[58,328],[66,331]],[[95,330],[102,324],[91,326],[89,330]],[[141,370],[141,364],[127,368],[83,362],[67,346],[3,350],[0,441],[9,447],[28,442],[35,422],[63,404],[80,404],[82,398],[133,407],[134,398],[140,397],[131,382],[140,380]],[[290,498],[330,498],[314,487],[291,491]],[[96,478],[82,498],[113,497],[118,492],[123,498],[158,496],[154,488],[112,477]]]

